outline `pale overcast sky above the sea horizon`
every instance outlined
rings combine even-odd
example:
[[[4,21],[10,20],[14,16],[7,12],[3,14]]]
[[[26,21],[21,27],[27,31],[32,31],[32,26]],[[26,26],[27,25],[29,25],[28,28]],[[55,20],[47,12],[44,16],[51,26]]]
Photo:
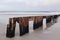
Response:
[[[60,0],[0,0],[0,11],[60,11]]]

